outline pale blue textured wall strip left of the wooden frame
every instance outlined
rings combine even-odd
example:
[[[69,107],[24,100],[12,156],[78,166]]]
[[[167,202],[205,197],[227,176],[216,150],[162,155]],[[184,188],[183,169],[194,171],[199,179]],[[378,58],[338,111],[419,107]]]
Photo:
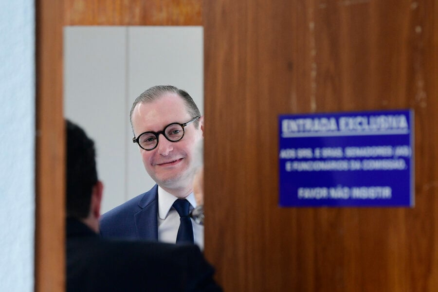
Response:
[[[0,290],[34,290],[35,7],[0,2]]]

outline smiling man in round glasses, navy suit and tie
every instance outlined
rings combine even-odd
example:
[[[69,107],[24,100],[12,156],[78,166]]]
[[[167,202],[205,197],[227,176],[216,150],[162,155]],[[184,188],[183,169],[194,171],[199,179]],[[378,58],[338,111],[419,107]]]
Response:
[[[196,146],[203,139],[198,107],[186,91],[154,86],[135,99],[130,122],[132,142],[157,184],[104,214],[101,235],[191,242],[203,249],[203,225],[190,217],[201,207],[192,186],[199,164]]]

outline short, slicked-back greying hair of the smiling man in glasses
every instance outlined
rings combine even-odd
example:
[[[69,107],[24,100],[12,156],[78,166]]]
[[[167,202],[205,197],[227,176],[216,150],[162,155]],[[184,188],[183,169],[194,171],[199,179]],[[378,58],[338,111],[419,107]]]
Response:
[[[198,109],[198,106],[193,101],[193,98],[188,94],[187,91],[182,89],[178,89],[172,85],[157,85],[153,86],[149,89],[146,89],[139,97],[137,97],[132,103],[131,111],[129,112],[129,121],[131,122],[132,132],[134,132],[134,128],[132,127],[132,112],[134,108],[139,103],[149,103],[154,100],[157,100],[165,93],[176,93],[178,94],[184,101],[187,112],[191,115],[192,118],[200,117],[201,112]],[[194,122],[195,127],[197,128],[199,125],[199,120]],[[135,133],[134,133],[135,134]]]

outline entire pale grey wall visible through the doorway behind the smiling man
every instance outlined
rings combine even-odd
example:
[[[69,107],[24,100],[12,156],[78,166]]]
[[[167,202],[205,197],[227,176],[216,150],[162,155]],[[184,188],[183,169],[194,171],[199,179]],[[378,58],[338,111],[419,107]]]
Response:
[[[129,110],[147,88],[167,84],[203,112],[202,27],[64,28],[64,112],[95,141],[103,212],[154,185],[132,143]]]

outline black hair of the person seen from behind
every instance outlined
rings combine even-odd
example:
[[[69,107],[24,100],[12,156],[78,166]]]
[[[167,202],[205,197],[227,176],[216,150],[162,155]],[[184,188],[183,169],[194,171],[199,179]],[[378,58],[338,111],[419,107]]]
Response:
[[[94,142],[79,126],[66,120],[67,216],[87,218],[91,192],[97,183]]]

